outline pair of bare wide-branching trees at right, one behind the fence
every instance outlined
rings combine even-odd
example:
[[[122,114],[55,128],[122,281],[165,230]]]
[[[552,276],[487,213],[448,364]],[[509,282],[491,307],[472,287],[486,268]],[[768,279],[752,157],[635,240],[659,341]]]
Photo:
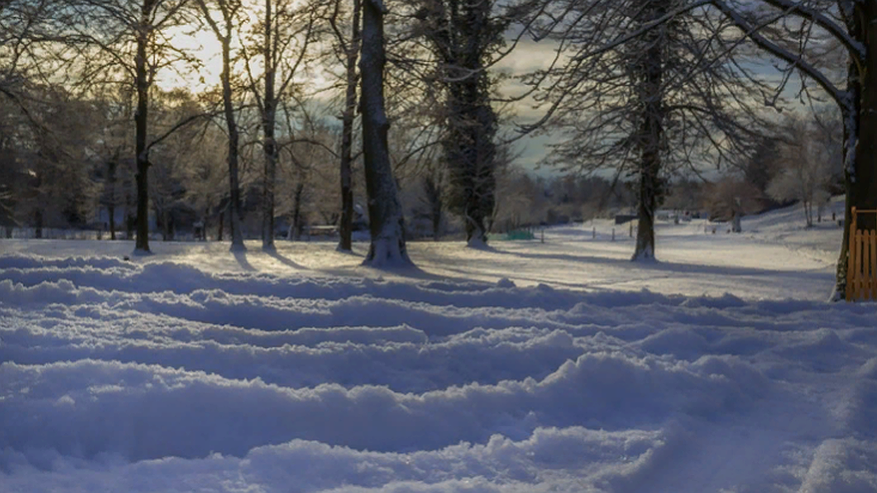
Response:
[[[673,172],[698,173],[703,161],[742,167],[765,136],[777,137],[759,110],[782,109],[795,79],[798,98],[829,100],[840,114],[846,223],[851,207],[877,205],[873,2],[569,0],[546,10],[528,29],[555,40],[558,56],[527,81],[548,107],[530,128],[570,136],[555,153],[567,166],[635,177],[634,259],[654,254],[654,212]],[[758,60],[779,77],[760,76]],[[835,299],[846,289],[848,244],[845,230]]]

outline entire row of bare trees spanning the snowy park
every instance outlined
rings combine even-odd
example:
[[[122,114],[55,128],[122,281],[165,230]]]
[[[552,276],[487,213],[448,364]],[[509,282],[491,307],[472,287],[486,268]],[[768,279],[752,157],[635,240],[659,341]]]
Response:
[[[259,210],[271,249],[275,218],[299,229],[310,184],[334,180],[317,200],[336,201],[325,216],[349,249],[363,181],[366,262],[407,263],[400,184],[419,190],[435,234],[446,210],[473,246],[523,221],[524,201],[500,195],[521,181],[500,124],[515,102],[542,115],[519,133],[560,136],[550,164],[635,185],[634,260],[655,256],[673,177],[705,164],[808,211],[841,181],[849,216],[877,208],[875,20],[864,0],[8,0],[0,220],[41,224],[51,201],[81,223],[97,196],[133,211],[126,228],[148,252],[150,208],[170,236],[185,204],[221,210],[242,249]],[[220,47],[217,80],[183,42],[198,36]],[[500,95],[494,68],[525,38],[556,56]],[[209,90],[194,95],[159,83],[199,75]],[[771,111],[792,99],[838,116],[778,124]],[[725,188],[739,216],[748,195]],[[847,259],[845,234],[838,298]]]

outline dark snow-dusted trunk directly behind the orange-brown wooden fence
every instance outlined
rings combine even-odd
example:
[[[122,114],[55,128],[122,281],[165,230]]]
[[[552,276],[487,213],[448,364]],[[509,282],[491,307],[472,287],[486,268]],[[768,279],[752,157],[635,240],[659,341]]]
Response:
[[[847,267],[850,256],[852,208],[877,209],[877,5],[855,2],[854,15],[847,28],[850,35],[865,47],[861,69],[850,62],[847,71],[849,104],[841,108],[844,120],[844,234],[837,275],[831,299],[846,299]],[[860,229],[877,229],[877,217],[863,214],[857,218]]]

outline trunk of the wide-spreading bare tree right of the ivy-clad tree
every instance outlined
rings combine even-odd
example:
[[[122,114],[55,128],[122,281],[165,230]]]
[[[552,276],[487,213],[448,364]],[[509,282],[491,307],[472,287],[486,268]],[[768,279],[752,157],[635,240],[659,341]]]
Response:
[[[658,19],[666,11],[664,2],[648,9],[645,22]],[[644,22],[644,23],[645,23]],[[639,136],[642,145],[639,169],[639,204],[637,207],[636,247],[631,260],[655,258],[655,210],[661,194],[661,142],[664,133],[664,27],[650,30],[645,36],[648,43],[641,65],[634,77],[644,94],[642,129]]]

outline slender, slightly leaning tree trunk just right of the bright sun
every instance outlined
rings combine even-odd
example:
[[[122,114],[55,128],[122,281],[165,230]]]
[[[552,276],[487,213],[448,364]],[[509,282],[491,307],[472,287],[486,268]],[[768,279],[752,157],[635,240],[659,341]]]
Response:
[[[228,187],[229,214],[231,215],[231,250],[246,251],[241,228],[241,184],[238,176],[238,149],[240,133],[234,115],[234,96],[231,87],[231,20],[226,19],[226,35],[222,39],[222,103],[228,129]]]

